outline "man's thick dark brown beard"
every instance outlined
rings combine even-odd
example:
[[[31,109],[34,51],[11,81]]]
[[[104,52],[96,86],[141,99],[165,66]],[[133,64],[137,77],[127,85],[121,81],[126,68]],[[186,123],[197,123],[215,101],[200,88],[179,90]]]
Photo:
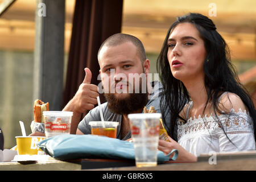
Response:
[[[115,97],[114,93],[105,93],[110,111],[115,114],[130,114],[147,104],[148,93],[130,93],[124,99]]]

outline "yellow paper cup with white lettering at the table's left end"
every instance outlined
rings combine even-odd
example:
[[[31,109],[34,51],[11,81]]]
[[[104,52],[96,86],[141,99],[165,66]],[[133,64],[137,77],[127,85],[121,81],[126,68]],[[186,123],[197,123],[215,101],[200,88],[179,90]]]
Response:
[[[46,137],[18,136],[15,138],[16,138],[16,143],[18,147],[18,155],[44,155],[45,154],[45,152],[42,151],[36,144],[44,140]]]

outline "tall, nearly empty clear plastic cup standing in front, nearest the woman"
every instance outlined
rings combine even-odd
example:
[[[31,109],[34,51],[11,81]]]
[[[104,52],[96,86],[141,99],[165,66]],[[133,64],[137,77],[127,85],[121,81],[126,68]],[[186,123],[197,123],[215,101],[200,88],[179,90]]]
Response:
[[[137,167],[157,166],[160,113],[128,114]]]

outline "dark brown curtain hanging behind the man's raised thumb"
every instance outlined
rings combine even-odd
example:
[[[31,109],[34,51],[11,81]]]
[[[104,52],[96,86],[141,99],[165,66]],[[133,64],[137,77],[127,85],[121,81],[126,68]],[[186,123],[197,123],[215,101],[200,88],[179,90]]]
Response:
[[[122,5],[122,0],[76,0],[63,107],[84,80],[85,67],[92,71],[91,83],[100,83],[98,49],[106,38],[121,32]],[[104,96],[100,98],[105,102]]]

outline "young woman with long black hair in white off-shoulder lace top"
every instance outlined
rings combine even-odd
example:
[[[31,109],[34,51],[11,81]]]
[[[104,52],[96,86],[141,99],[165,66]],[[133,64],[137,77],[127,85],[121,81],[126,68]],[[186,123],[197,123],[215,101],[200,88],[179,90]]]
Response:
[[[196,13],[178,17],[157,68],[164,87],[160,106],[172,113],[171,142],[160,140],[159,150],[168,154],[176,148],[177,160],[191,161],[212,151],[255,150],[254,105],[212,20]],[[175,126],[177,142],[172,139]]]

